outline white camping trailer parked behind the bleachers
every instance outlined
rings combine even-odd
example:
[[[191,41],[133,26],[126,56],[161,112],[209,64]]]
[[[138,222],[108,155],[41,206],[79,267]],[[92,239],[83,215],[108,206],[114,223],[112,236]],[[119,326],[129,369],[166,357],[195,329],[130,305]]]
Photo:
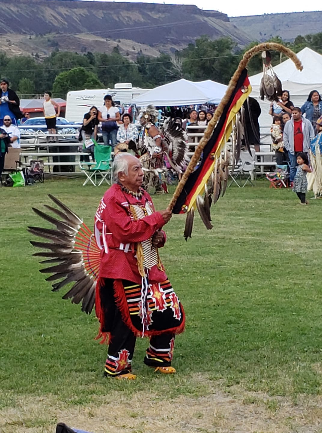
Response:
[[[95,105],[98,109],[104,103],[104,96],[111,95],[114,101],[121,104],[130,104],[131,100],[151,89],[132,87],[131,83],[115,84],[114,89],[85,89],[68,92],[66,98],[66,119],[71,122],[81,123],[84,114],[88,113],[90,107]]]

